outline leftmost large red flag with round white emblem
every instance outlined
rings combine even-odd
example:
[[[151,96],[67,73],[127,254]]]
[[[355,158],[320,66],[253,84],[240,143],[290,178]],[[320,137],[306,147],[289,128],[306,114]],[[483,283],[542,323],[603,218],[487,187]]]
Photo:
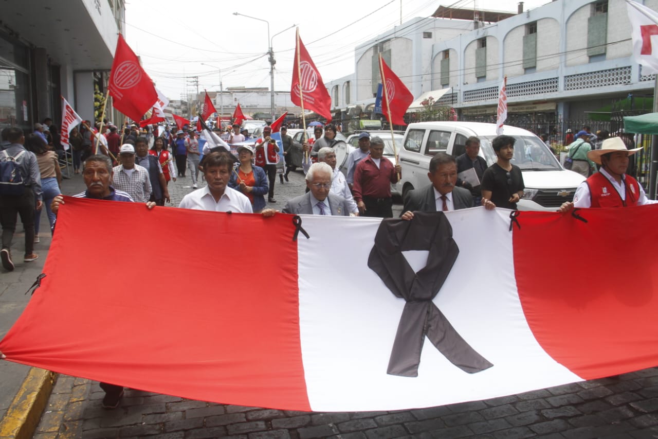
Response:
[[[139,121],[158,100],[153,81],[121,34],[116,42],[108,88],[114,108],[134,121]]]

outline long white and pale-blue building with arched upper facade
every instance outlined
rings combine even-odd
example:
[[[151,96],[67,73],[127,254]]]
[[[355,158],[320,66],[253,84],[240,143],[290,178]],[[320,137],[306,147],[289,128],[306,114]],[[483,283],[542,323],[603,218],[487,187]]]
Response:
[[[658,0],[644,4],[658,9]],[[653,96],[654,76],[632,60],[624,0],[556,0],[528,11],[520,3],[516,14],[440,7],[357,46],[355,73],[325,84],[336,111],[372,110],[378,53],[417,98],[410,112],[432,96],[460,120],[495,119],[505,76],[509,123],[542,131]]]

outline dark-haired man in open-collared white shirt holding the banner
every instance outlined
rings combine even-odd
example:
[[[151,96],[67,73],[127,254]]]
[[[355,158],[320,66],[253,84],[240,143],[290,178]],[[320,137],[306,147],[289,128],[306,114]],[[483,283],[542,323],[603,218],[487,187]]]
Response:
[[[207,185],[184,196],[178,207],[211,212],[253,213],[249,198],[228,187],[233,162],[234,158],[226,152],[212,152],[204,157],[203,176]]]

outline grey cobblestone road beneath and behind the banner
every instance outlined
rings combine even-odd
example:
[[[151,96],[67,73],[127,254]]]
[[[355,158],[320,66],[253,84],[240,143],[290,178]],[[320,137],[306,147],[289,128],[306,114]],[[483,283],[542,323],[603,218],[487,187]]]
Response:
[[[81,185],[76,176],[64,192],[77,192]],[[277,179],[278,202],[270,206],[282,208],[304,187],[301,173],[292,173],[284,185]],[[172,205],[191,190],[189,177],[172,183]],[[38,247],[44,256],[46,247]],[[32,278],[30,273],[25,276]],[[16,295],[24,289],[10,285],[3,294],[7,291]],[[658,368],[486,401],[394,412],[280,411],[138,390],[127,390],[120,407],[107,411],[101,408],[103,395],[96,382],[60,376],[34,438],[658,438]]]

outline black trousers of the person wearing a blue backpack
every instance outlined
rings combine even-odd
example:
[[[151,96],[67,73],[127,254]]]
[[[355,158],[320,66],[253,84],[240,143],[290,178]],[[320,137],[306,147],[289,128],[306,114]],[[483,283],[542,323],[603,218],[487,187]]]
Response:
[[[25,254],[34,250],[34,192],[25,187],[22,195],[0,195],[0,225],[2,225],[2,248],[11,249],[11,241],[16,231],[16,221],[25,227]]]

